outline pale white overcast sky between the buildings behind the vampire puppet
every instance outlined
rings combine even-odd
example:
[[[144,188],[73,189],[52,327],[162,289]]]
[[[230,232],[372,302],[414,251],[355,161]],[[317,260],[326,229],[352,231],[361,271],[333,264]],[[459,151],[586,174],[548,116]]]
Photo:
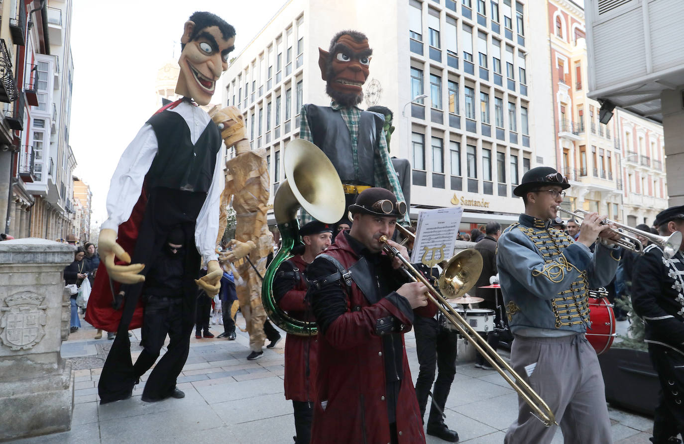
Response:
[[[121,153],[157,110],[157,70],[178,60],[183,23],[197,10],[235,27],[237,55],[285,0],[104,2],[74,0],[74,60],[69,144],[75,170],[92,191],[92,226],[106,218],[109,180]],[[221,99],[220,92],[214,103]]]

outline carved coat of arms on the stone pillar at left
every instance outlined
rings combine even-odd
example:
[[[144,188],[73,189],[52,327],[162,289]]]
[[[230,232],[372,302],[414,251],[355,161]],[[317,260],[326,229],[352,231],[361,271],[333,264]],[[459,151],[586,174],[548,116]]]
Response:
[[[41,305],[44,299],[31,291],[19,291],[5,298],[7,306],[0,306],[0,341],[12,350],[33,348],[45,335],[47,306]]]

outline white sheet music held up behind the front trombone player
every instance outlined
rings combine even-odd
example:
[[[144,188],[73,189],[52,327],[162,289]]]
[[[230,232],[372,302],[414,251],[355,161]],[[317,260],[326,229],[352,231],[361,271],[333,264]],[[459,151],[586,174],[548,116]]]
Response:
[[[463,207],[460,206],[423,210],[418,213],[411,262],[433,267],[436,263],[451,259],[462,216]]]

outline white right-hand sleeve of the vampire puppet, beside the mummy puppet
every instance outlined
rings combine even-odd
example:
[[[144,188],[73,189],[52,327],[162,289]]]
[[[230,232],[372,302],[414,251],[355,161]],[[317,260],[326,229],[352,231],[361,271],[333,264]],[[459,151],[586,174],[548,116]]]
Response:
[[[221,194],[226,186],[226,178],[223,174],[224,153],[224,146],[221,144],[221,149],[216,154],[216,165],[207,200],[202,205],[195,224],[195,245],[205,263],[218,259],[218,254],[216,254],[218,218],[221,211]]]

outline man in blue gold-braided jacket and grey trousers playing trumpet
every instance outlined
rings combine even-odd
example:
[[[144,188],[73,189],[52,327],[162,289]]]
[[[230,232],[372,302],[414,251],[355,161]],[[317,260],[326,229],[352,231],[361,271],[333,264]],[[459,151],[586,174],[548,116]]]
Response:
[[[618,235],[605,216],[589,213],[577,241],[551,228],[556,207],[570,185],[553,168],[523,176],[514,194],[525,212],[499,238],[497,267],[511,332],[514,370],[549,404],[566,443],[611,443],[605,388],[590,328],[588,289],[615,275]],[[597,238],[596,250],[589,247]],[[556,426],[545,427],[518,397],[518,418],[505,443],[550,443]]]

